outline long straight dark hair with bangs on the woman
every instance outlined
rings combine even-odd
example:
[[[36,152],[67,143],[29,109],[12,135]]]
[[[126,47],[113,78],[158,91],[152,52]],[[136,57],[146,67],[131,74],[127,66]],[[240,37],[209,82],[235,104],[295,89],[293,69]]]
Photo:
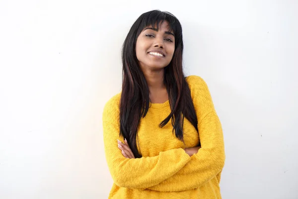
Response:
[[[198,131],[198,119],[185,80],[182,68],[182,27],[179,20],[171,13],[152,10],[143,13],[132,25],[122,46],[123,79],[120,100],[120,135],[127,142],[135,158],[141,158],[137,148],[137,129],[141,117],[145,117],[149,109],[149,88],[145,76],[138,64],[136,41],[143,29],[149,25],[154,27],[159,22],[167,21],[170,31],[175,35],[173,58],[164,68],[164,85],[168,92],[171,113],[159,124],[162,128],[171,119],[173,130],[178,139],[183,139],[183,120],[186,117]]]

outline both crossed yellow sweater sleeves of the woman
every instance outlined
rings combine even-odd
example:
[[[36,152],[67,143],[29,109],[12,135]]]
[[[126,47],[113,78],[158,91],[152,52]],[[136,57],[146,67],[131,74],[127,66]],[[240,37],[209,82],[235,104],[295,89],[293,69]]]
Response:
[[[121,153],[117,139],[124,140],[124,137],[119,136],[119,125],[110,123],[117,119],[109,116],[115,110],[104,111],[103,135],[106,160],[116,185],[162,192],[184,191],[201,187],[222,171],[225,161],[222,125],[206,83],[196,78],[194,84],[196,86],[191,87],[191,92],[199,120],[201,148],[193,155],[190,154],[191,156],[182,148],[142,158],[129,156],[132,154],[129,154],[127,148],[126,152]]]

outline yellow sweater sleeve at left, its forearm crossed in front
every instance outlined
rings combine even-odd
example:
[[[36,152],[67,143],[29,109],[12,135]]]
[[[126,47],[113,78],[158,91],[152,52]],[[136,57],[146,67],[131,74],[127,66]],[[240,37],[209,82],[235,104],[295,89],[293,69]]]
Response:
[[[170,178],[190,161],[182,148],[159,152],[153,157],[125,158],[118,148],[119,135],[118,103],[110,100],[103,112],[103,140],[106,161],[114,183],[130,189],[147,189]]]

